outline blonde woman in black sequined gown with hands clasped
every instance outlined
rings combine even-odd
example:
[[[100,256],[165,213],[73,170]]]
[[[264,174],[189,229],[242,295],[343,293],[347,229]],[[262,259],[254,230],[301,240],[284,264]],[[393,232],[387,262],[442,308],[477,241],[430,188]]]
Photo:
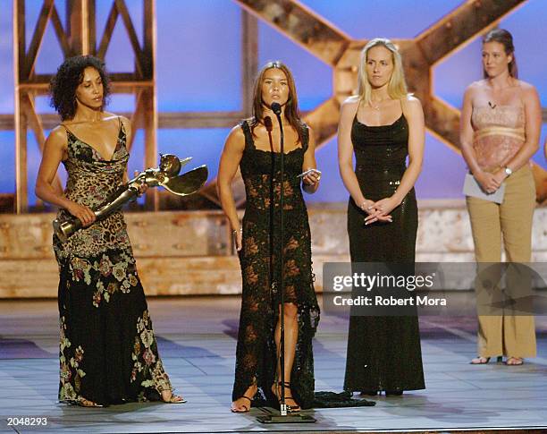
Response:
[[[348,98],[341,107],[338,136],[341,176],[351,195],[351,261],[413,263],[414,183],[425,140],[422,107],[408,95],[400,54],[388,39],[366,44],[358,80],[358,96]],[[417,317],[351,316],[344,389],[374,396],[422,388]]]

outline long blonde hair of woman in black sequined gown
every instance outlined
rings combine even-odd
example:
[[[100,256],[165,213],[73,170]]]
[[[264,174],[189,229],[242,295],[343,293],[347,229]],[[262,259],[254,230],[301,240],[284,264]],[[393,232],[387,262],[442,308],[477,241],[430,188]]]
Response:
[[[358,97],[359,101],[370,105],[372,86],[366,77],[366,57],[368,50],[373,47],[384,47],[391,51],[391,60],[393,62],[393,71],[391,72],[390,82],[388,83],[388,95],[392,99],[406,98],[408,95],[407,82],[405,81],[405,72],[402,67],[402,59],[399,50],[387,38],[374,38],[368,41],[361,51],[358,71]]]

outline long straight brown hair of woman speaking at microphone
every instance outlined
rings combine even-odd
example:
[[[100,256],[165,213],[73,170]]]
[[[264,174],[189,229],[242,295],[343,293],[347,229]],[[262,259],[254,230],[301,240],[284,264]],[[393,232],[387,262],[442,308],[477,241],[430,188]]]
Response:
[[[262,123],[265,106],[265,103],[262,100],[262,81],[264,80],[265,72],[273,68],[281,70],[282,72],[284,72],[285,77],[287,77],[287,84],[289,85],[289,98],[287,99],[287,103],[285,104],[284,114],[285,118],[289,121],[290,126],[294,129],[294,131],[298,132],[299,143],[302,143],[303,122],[300,120],[299,99],[297,98],[296,85],[294,84],[294,78],[292,76],[292,72],[290,72],[290,69],[287,67],[286,64],[283,64],[279,60],[268,62],[262,67],[260,72],[258,72],[257,80],[255,81],[255,90],[253,93],[253,118],[250,122],[251,131],[254,134],[254,130],[257,124]]]

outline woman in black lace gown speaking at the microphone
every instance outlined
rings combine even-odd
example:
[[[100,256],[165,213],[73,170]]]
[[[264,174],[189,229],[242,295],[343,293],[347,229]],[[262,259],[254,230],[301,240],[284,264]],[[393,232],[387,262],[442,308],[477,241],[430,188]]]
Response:
[[[271,106],[282,106],[284,176],[280,179],[280,129]],[[248,412],[253,399],[279,398],[285,388],[290,411],[311,406],[314,399],[312,337],[319,320],[311,267],[307,209],[300,183],[316,191],[313,134],[299,118],[297,94],[289,69],[281,62],[265,65],[255,85],[253,117],[234,127],[223,149],[218,192],[230,220],[240,256],[243,294],[236,352],[233,412]],[[270,145],[266,117],[273,120]],[[231,181],[240,167],[247,204],[243,224],[236,213]],[[280,239],[280,192],[284,224]],[[272,236],[273,234],[273,236]],[[283,247],[285,383],[280,381],[281,315],[278,252]]]

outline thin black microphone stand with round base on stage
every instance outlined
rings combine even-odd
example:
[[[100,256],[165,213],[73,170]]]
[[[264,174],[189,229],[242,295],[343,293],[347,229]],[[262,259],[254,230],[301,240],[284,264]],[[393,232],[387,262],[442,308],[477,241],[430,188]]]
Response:
[[[279,415],[275,413],[270,413],[265,416],[258,416],[257,421],[260,421],[262,423],[310,423],[315,422],[316,420],[307,415],[307,414],[299,414],[299,413],[288,413],[287,412],[287,404],[285,403],[285,287],[283,283],[283,265],[284,265],[284,254],[283,254],[283,226],[284,226],[284,209],[283,209],[283,201],[284,201],[284,189],[283,189],[283,178],[285,174],[285,152],[284,152],[284,137],[283,137],[283,125],[282,125],[282,106],[279,103],[273,103],[272,104],[272,111],[273,114],[277,117],[277,122],[279,123],[279,131],[280,131],[280,198],[279,198],[279,206],[280,206],[280,228],[279,228],[279,236],[280,236],[280,245],[279,245],[279,293],[280,293],[280,303],[281,303],[281,312],[280,312],[280,355],[279,355],[279,369],[280,369],[280,375],[281,375],[281,387],[282,387],[282,393],[281,393],[281,400],[280,400],[280,412]],[[270,140],[270,147],[272,148],[272,151],[274,152],[275,149],[273,148],[273,141],[272,141],[272,119],[269,116],[265,117],[265,127],[268,132],[268,138]],[[274,153],[272,154],[275,155]],[[273,184],[273,177],[272,177],[272,184]],[[274,208],[274,201],[271,202],[271,207],[273,207],[273,216],[275,216],[275,208]],[[272,225],[273,226],[273,225]],[[273,231],[271,234],[273,238]],[[272,268],[270,268],[270,273],[272,273]],[[277,386],[277,385],[275,385]]]

